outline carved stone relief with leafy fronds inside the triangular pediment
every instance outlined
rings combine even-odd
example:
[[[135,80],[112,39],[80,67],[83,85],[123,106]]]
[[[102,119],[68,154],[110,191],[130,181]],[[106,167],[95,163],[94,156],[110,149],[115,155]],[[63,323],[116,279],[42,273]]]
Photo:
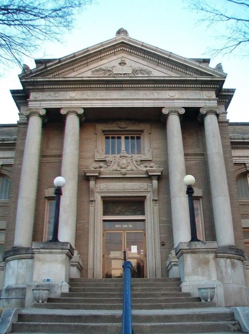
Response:
[[[133,67],[126,64],[125,58],[121,58],[119,66],[105,66],[92,70],[93,76],[151,76],[152,71],[141,67]]]

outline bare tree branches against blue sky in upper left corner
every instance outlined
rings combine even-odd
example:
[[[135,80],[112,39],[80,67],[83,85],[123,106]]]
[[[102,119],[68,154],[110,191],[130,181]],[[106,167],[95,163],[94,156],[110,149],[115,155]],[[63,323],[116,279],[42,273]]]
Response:
[[[0,63],[21,64],[41,42],[59,41],[92,0],[0,0]]]

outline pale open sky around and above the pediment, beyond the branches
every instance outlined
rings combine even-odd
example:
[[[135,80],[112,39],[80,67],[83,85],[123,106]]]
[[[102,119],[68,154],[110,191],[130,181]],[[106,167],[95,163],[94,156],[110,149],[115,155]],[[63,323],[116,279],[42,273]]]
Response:
[[[47,43],[33,58],[60,58],[112,39],[123,27],[135,40],[151,44],[186,58],[211,58],[209,47],[219,48],[216,38],[226,27],[207,28],[200,16],[187,7],[191,0],[95,0],[75,18],[75,29],[64,35],[63,43]],[[208,3],[215,0],[208,0]],[[219,3],[225,0],[219,0]],[[249,46],[247,51],[249,50]],[[231,122],[249,122],[249,53],[220,55],[210,61],[215,67],[222,63],[227,79],[224,88],[236,88],[228,109]],[[23,61],[31,69],[34,61]],[[10,69],[0,79],[0,123],[16,123],[18,110],[9,92],[21,89],[20,68]]]

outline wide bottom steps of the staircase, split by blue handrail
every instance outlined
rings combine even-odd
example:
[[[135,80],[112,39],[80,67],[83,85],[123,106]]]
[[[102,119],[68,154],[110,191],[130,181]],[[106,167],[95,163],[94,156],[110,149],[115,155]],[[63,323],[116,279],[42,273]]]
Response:
[[[119,311],[23,310],[12,326],[15,333],[120,334],[122,313]],[[229,309],[133,311],[135,334],[241,332]]]

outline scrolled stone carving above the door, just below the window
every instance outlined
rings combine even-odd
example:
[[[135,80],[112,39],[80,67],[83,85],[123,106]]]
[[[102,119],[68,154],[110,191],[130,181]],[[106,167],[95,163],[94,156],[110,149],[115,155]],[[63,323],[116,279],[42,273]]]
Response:
[[[128,171],[148,171],[158,169],[155,163],[141,164],[141,158],[136,155],[129,155],[125,151],[121,154],[113,155],[106,158],[106,163],[93,163],[90,170],[101,170],[102,172],[114,172],[119,171],[122,175],[125,175]]]

